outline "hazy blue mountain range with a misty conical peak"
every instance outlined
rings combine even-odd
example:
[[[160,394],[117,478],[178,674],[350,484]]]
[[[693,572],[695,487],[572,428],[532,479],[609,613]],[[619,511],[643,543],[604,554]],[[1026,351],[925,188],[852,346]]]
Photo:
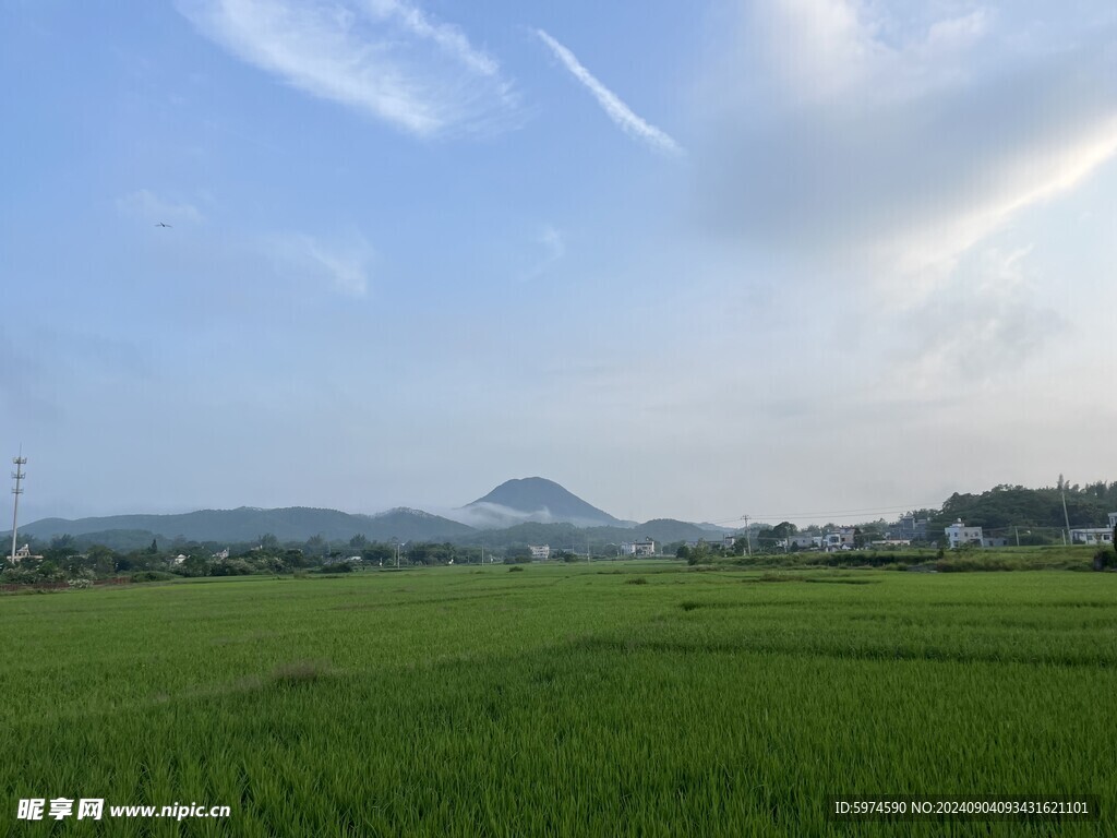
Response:
[[[658,542],[719,537],[720,527],[682,521],[656,520],[645,524],[620,521],[586,503],[553,480],[525,477],[500,484],[484,497],[455,510],[455,518],[422,510],[394,508],[376,515],[337,510],[292,506],[260,510],[199,510],[172,515],[109,515],[76,521],[41,518],[20,526],[20,535],[49,540],[73,535],[79,543],[103,543],[131,550],[152,539],[217,543],[251,543],[265,534],[280,542],[303,542],[315,535],[347,541],[364,535],[370,541],[449,541],[502,546],[550,543],[585,549],[619,544],[640,537]],[[9,536],[10,537],[10,536]]]

